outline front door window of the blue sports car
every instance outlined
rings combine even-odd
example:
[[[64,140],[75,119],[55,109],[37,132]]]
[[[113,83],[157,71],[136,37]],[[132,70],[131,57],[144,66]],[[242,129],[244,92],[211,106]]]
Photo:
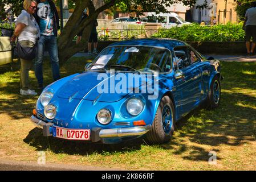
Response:
[[[189,59],[187,47],[174,48],[174,54],[175,54],[173,59],[174,68],[178,66],[178,69],[183,69],[190,65],[190,59]]]

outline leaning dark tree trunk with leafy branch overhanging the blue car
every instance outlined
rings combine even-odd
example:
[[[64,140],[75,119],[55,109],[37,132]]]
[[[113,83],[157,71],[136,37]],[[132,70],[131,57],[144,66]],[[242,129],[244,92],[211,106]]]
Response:
[[[75,4],[74,13],[63,28],[58,38],[59,60],[63,64],[76,52],[82,51],[87,47],[87,42],[92,30],[92,24],[99,13],[107,9],[121,9],[124,12],[135,12],[141,14],[142,12],[166,13],[166,7],[173,3],[182,2],[184,5],[193,6],[196,0],[102,0],[103,5],[97,7],[92,0],[69,0],[70,5]],[[14,12],[17,13],[22,9],[22,0],[3,0],[1,6],[13,5]],[[58,1],[55,1],[58,5]],[[89,10],[88,18],[81,21],[81,16],[84,9]],[[80,32],[83,31],[82,42],[75,44],[72,40]]]

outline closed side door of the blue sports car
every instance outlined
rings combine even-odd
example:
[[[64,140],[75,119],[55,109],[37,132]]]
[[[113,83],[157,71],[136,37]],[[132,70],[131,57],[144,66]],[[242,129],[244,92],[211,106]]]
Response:
[[[176,84],[176,98],[178,115],[182,117],[196,107],[198,95],[200,95],[201,73],[194,64],[190,63],[188,46],[181,46],[174,49],[174,59],[180,60],[179,69],[183,77],[174,79]]]

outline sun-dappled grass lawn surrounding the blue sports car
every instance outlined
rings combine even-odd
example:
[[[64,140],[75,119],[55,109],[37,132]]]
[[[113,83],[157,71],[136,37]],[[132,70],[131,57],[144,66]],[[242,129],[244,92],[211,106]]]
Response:
[[[61,69],[81,72],[88,59],[72,58]],[[44,78],[52,81],[49,60]],[[0,67],[0,160],[36,162],[38,151],[47,163],[69,163],[121,169],[247,170],[256,169],[256,63],[222,62],[221,105],[196,109],[177,123],[169,143],[149,146],[143,139],[121,144],[91,144],[45,138],[29,121],[38,96],[19,95],[19,63]],[[34,69],[31,86],[36,88]],[[217,164],[209,164],[209,152]]]

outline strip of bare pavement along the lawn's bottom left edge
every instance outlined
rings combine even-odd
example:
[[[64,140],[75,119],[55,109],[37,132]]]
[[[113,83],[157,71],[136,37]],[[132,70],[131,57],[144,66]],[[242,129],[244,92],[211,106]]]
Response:
[[[119,171],[116,168],[103,168],[95,166],[82,166],[71,164],[46,163],[39,165],[36,162],[17,162],[0,160],[0,171]]]

